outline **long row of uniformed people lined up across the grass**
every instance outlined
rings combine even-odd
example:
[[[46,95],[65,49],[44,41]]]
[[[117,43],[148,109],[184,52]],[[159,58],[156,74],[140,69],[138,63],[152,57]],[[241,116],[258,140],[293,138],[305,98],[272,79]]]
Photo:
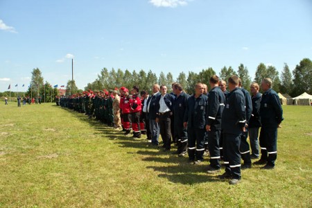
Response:
[[[114,118],[110,122],[114,123],[115,128],[122,125],[125,135],[130,135],[132,130],[133,137],[138,138],[141,133],[146,134],[151,146],[159,146],[161,135],[164,151],[170,151],[171,143],[175,142],[175,153],[188,155],[191,164],[200,164],[205,150],[208,150],[210,164],[207,173],[219,173],[223,159],[225,173],[219,177],[229,178],[230,184],[239,182],[241,168],[251,168],[252,158],[259,158],[258,135],[262,125],[261,159],[255,163],[266,164],[263,166],[266,169],[274,168],[277,127],[283,117],[279,98],[272,90],[272,81],[269,78],[263,79],[262,96],[257,83],[250,86],[250,96],[241,87],[241,80],[237,76],[229,78],[229,92],[226,90],[226,82],[219,80],[218,76],[211,76],[209,85],[211,89],[207,92],[207,85],[197,83],[193,95],[184,92],[180,83],[173,83],[171,94],[168,94],[167,86],[155,84],[153,94],[148,95],[148,92],[142,91],[141,97],[136,86],[130,92],[121,87],[120,97],[116,89],[97,95],[90,90],[83,96],[69,98],[68,102],[69,105],[76,106],[73,104],[75,99],[85,100],[85,112],[96,118],[96,108],[104,109]],[[97,99],[104,100],[100,107],[96,107]],[[110,122],[107,124],[111,124]]]

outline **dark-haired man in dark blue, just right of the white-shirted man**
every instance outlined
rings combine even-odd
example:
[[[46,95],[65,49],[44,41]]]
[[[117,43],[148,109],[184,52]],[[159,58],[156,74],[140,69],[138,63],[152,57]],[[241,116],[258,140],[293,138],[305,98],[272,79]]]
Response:
[[[187,108],[189,95],[183,92],[182,85],[175,83],[172,87],[175,94],[173,103],[174,137],[177,138],[177,154],[183,157],[187,154],[187,128],[183,126],[184,112]]]

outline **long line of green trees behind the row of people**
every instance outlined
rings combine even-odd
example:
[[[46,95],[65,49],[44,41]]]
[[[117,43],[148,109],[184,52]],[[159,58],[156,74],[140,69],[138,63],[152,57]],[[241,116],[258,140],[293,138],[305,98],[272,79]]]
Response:
[[[209,78],[217,74],[214,69],[209,67],[208,69],[202,69],[199,73],[189,71],[188,74],[183,71],[179,73],[177,78],[173,79],[173,74],[171,72],[164,73],[163,71],[159,74],[159,77],[152,70],[148,73],[144,69],[139,72],[133,70],[130,72],[128,69],[125,71],[121,69],[108,71],[107,68],[103,68],[98,74],[98,78],[92,83],[88,83],[85,90],[103,90],[103,89],[114,89],[115,87],[127,87],[132,88],[134,85],[139,86],[139,89],[146,89],[151,92],[151,87],[154,83],[159,83],[159,85],[166,85],[169,87],[173,82],[180,83],[184,90],[191,94],[196,83],[209,83]],[[273,89],[276,92],[281,92],[282,94],[289,94],[290,96],[298,96],[303,92],[312,94],[312,62],[309,58],[304,58],[299,64],[291,70],[288,64],[284,63],[284,69],[279,75],[279,71],[276,67],[270,65],[266,66],[262,62],[258,65],[257,70],[254,74],[254,80],[250,78],[248,68],[243,64],[234,70],[232,67],[223,67],[220,69],[218,76],[220,79],[227,80],[229,76],[236,75],[239,76],[243,82],[243,87],[250,90],[250,84],[252,82],[261,83],[263,78],[271,78],[273,81]]]

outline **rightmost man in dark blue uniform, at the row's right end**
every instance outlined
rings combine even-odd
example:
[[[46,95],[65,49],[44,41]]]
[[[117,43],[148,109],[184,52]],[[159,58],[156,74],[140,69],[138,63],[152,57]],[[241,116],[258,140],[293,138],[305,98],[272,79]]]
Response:
[[[283,110],[279,101],[279,96],[271,88],[272,80],[264,78],[261,82],[261,88],[264,93],[260,103],[261,116],[261,132],[260,146],[261,159],[255,164],[266,164],[264,169],[272,169],[275,167],[277,158],[277,128],[283,121]]]

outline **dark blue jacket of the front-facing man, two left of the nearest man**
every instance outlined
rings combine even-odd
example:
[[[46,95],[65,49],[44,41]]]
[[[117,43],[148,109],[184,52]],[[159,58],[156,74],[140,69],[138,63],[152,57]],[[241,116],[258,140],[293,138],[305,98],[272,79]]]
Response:
[[[183,119],[184,122],[187,122],[187,128],[205,128],[207,105],[208,98],[204,94],[198,98],[195,98],[194,95],[189,97]]]

